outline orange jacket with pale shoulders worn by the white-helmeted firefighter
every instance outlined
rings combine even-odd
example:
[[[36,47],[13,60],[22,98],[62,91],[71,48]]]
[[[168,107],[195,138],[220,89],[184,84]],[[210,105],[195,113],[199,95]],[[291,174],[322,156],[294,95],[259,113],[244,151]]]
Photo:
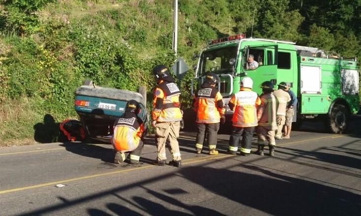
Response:
[[[257,126],[257,107],[260,104],[261,99],[257,93],[248,88],[241,88],[228,103],[230,109],[234,111],[232,125],[235,127]]]

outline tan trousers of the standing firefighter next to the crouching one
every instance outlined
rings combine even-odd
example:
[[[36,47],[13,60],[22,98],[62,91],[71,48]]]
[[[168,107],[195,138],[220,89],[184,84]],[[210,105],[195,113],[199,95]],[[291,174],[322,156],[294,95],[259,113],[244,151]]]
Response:
[[[173,160],[181,160],[179,151],[179,144],[177,138],[179,137],[180,122],[159,122],[156,125],[156,139],[158,156],[157,160],[166,160],[165,145],[169,138],[170,154]]]

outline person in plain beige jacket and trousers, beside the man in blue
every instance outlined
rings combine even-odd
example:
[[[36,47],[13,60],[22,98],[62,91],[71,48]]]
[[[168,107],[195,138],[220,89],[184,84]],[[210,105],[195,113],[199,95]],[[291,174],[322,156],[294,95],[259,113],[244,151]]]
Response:
[[[277,109],[277,125],[278,128],[276,130],[276,134],[274,135],[275,139],[282,139],[282,128],[286,122],[286,110],[287,104],[291,101],[291,96],[288,91],[288,86],[285,82],[280,82],[278,84],[278,90],[274,91],[273,94],[277,97],[279,102]]]

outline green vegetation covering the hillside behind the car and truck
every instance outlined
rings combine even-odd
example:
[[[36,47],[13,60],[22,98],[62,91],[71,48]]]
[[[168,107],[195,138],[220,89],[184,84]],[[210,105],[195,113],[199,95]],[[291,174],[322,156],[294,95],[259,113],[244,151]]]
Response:
[[[236,33],[361,57],[360,1],[178,3],[178,57],[189,67],[207,40]],[[74,91],[86,78],[98,86],[131,91],[145,85],[151,107],[151,69],[159,63],[171,67],[176,60],[171,47],[172,4],[0,0],[0,146],[53,141],[56,123],[77,118]],[[182,80],[184,109],[191,103],[192,77],[190,70]]]

